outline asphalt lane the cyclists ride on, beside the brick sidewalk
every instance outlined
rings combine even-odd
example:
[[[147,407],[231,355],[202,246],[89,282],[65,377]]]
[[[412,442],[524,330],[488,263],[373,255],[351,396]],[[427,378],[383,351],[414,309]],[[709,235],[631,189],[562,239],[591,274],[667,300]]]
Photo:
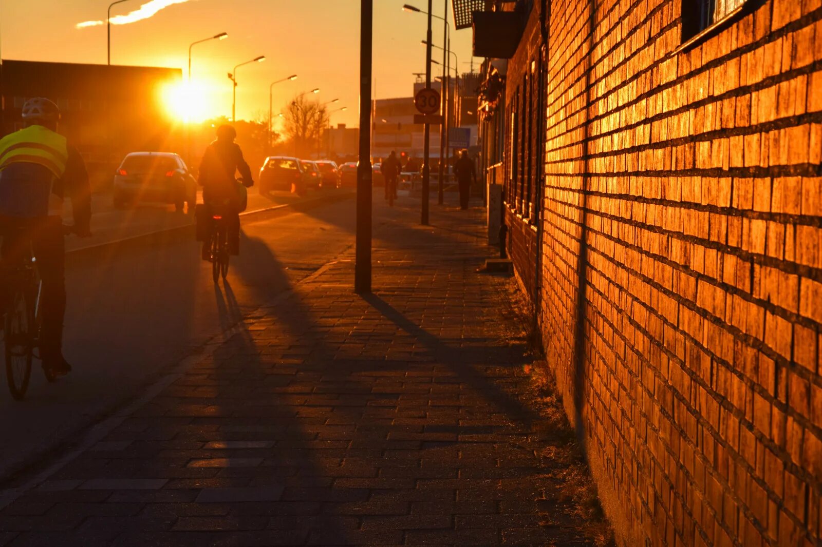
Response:
[[[253,199],[261,204],[265,198]],[[61,439],[75,438],[242,315],[353,245],[354,200],[301,209],[307,210],[243,218],[241,255],[224,290],[215,289],[193,230],[68,253],[64,345],[75,370],[47,384],[35,369],[25,402],[12,401],[0,387],[0,436],[7,441],[0,448],[0,477],[53,451]],[[176,218],[164,209],[132,213]],[[102,232],[109,241],[146,231],[122,228],[122,219],[103,220],[97,226],[109,227]]]

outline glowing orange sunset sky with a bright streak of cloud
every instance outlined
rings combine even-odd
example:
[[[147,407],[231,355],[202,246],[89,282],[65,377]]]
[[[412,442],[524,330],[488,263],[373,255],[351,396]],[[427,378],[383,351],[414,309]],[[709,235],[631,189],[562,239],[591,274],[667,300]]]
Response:
[[[433,0],[443,16],[445,2]],[[374,0],[374,79],[376,97],[413,94],[413,72],[425,71],[427,17],[402,10],[405,2],[426,9],[425,0]],[[110,0],[0,0],[0,55],[3,59],[51,62],[106,62],[106,25]],[[147,5],[146,4],[150,4]],[[267,115],[269,85],[291,74],[298,79],[273,88],[277,113],[294,95],[319,87],[321,102],[339,99],[329,109],[331,122],[358,125],[359,0],[127,0],[112,8],[112,20],[141,21],[111,26],[112,64],[178,67],[185,77],[188,46],[198,39],[227,32],[192,49],[192,80],[207,117],[230,117],[233,67],[265,55],[266,61],[237,71],[237,117]],[[159,9],[158,9],[159,8]],[[153,13],[153,15],[151,15]],[[121,16],[116,19],[115,16]],[[453,25],[453,13],[449,14]],[[471,30],[451,32],[451,48],[460,71],[470,70]],[[433,43],[441,45],[443,25],[433,20]],[[434,49],[434,58],[442,51]],[[474,59],[478,69],[480,59]],[[438,74],[441,67],[434,65]]]

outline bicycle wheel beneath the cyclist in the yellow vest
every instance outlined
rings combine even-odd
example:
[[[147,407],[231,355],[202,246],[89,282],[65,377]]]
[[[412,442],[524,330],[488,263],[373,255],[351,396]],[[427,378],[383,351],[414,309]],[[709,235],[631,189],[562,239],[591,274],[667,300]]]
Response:
[[[29,388],[31,359],[34,347],[34,321],[31,317],[29,301],[21,291],[14,292],[12,305],[6,312],[4,353],[6,357],[6,378],[12,397],[20,401]]]

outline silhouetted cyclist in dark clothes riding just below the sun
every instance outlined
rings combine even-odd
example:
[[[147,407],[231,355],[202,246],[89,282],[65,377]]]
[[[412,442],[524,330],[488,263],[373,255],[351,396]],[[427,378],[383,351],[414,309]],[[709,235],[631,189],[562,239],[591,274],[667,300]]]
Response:
[[[239,195],[234,174],[240,172],[243,186],[254,186],[252,170],[242,158],[242,150],[234,142],[236,138],[237,131],[232,126],[224,124],[217,128],[217,140],[205,148],[198,181],[203,187],[205,207],[210,211],[219,209],[224,218],[228,215],[225,219],[228,221],[229,253],[232,255],[240,252]],[[209,241],[210,237],[203,241],[203,260],[210,259]]]

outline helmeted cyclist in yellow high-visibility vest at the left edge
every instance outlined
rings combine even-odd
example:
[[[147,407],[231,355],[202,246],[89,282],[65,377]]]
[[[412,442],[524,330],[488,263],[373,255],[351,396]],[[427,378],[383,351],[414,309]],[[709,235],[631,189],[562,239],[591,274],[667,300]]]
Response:
[[[2,258],[31,245],[43,280],[40,306],[40,357],[57,374],[72,370],[62,356],[62,321],[66,312],[65,243],[62,200],[72,199],[74,227],[91,235],[89,176],[79,152],[57,132],[60,110],[48,99],[23,105],[25,128],[0,139],[0,234]]]

